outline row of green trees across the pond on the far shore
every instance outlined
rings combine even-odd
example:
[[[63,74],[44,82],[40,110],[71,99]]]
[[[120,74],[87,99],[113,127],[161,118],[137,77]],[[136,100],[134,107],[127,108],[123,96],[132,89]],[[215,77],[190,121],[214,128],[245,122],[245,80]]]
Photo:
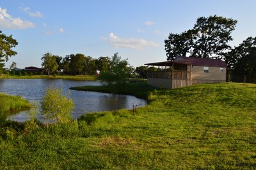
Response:
[[[70,54],[62,58],[47,52],[42,59],[42,68],[47,75],[51,73],[63,73],[65,75],[95,75],[98,73],[113,72],[118,67],[125,70],[128,77],[134,73],[133,66],[130,66],[128,59],[121,59],[118,53],[112,58],[101,56],[98,59],[84,54]]]

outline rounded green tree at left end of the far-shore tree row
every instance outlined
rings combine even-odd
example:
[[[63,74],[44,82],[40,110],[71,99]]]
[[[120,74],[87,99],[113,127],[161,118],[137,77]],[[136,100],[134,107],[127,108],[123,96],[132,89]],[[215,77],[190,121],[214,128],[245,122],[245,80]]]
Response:
[[[56,58],[52,56],[49,52],[44,54],[44,56],[41,58],[43,63],[43,69],[49,76],[50,73],[55,72],[58,69],[58,63],[56,62]]]

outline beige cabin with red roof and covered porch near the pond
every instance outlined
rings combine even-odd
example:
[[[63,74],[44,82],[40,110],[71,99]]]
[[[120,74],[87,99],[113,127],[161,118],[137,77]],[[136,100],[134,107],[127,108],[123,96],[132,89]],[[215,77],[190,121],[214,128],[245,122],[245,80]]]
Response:
[[[148,84],[163,88],[181,88],[200,83],[225,82],[227,65],[220,59],[179,56],[172,61],[147,63]],[[154,66],[156,71],[154,71]]]

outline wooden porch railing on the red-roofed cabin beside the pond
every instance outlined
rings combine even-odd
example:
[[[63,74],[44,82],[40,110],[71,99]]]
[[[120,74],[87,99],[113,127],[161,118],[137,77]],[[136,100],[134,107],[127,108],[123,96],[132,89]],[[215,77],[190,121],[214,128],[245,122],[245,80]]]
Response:
[[[190,80],[191,72],[186,71],[171,71],[171,72],[148,72],[148,78],[156,78],[156,79],[180,79],[180,80]]]

